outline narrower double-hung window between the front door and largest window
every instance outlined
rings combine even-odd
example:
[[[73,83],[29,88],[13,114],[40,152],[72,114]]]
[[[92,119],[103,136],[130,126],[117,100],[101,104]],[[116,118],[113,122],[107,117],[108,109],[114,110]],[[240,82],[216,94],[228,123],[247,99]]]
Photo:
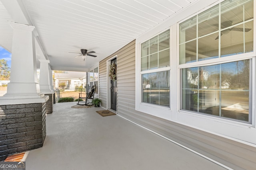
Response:
[[[141,44],[142,102],[170,107],[170,30]]]

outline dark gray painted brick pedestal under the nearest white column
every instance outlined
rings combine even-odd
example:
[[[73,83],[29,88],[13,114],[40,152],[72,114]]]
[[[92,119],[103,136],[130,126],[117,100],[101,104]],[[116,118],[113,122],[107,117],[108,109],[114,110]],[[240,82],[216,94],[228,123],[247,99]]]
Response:
[[[0,106],[0,160],[42,147],[45,136],[45,103]]]

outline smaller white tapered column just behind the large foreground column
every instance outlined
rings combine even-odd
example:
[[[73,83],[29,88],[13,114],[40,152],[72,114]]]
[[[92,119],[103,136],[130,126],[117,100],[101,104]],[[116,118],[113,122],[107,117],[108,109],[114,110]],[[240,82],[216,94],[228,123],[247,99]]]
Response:
[[[40,61],[40,91],[43,94],[53,94],[52,90],[50,89],[50,76],[49,76],[49,67],[48,64],[50,63],[49,60],[42,60]]]

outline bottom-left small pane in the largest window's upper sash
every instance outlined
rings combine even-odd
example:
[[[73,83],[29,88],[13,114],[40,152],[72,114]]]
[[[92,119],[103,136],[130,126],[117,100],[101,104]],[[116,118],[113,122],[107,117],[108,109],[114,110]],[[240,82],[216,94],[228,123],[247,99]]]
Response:
[[[196,40],[180,45],[180,64],[196,62]]]

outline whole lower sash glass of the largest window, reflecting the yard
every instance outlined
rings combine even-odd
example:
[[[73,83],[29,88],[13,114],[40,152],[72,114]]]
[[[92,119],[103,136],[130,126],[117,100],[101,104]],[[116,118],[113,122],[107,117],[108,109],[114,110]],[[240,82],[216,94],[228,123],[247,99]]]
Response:
[[[183,68],[182,109],[248,122],[249,86],[250,60]]]

